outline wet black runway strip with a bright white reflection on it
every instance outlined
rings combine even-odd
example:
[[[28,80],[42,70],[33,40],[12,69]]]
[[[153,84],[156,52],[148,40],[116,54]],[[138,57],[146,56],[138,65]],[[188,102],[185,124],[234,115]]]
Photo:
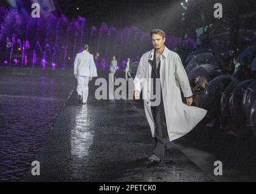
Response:
[[[126,100],[67,103],[38,155],[41,175],[26,181],[212,181],[173,143],[162,164],[148,163],[154,147],[147,120]]]

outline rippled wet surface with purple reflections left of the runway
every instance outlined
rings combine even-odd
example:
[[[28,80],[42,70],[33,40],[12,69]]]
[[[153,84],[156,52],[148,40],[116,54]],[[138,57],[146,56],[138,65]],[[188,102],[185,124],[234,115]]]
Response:
[[[21,181],[73,88],[67,78],[0,75],[0,181]]]

